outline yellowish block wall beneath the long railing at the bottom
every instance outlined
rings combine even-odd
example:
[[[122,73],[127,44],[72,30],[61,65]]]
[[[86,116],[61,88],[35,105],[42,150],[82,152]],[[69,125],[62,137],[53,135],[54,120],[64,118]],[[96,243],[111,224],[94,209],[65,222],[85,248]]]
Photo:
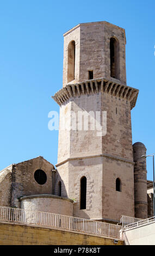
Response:
[[[0,223],[0,245],[123,245],[114,239],[15,223]]]

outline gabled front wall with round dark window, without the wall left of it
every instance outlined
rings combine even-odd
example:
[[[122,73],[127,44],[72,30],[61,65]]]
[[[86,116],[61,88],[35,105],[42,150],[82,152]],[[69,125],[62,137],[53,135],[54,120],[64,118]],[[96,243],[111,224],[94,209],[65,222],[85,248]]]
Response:
[[[44,160],[43,157],[13,165],[11,206],[20,208],[18,198],[22,196],[52,194],[53,168],[53,165]],[[44,185],[38,184],[34,179],[34,173],[37,169],[42,169],[47,175],[47,181]]]

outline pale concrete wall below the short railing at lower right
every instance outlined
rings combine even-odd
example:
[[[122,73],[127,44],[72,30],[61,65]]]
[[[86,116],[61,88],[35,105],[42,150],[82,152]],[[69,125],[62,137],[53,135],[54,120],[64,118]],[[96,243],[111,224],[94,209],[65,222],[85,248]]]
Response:
[[[127,230],[123,239],[126,245],[155,245],[155,223]]]

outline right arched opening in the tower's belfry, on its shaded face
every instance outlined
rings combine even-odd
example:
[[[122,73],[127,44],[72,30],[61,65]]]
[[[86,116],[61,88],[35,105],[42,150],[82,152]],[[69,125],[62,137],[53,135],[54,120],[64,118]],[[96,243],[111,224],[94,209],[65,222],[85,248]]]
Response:
[[[120,78],[120,47],[119,41],[110,38],[110,76]]]

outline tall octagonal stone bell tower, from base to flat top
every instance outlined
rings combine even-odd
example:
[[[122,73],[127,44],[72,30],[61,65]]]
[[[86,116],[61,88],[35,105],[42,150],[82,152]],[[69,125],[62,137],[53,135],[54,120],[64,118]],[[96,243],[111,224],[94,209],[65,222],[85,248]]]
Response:
[[[131,109],[139,91],[126,85],[125,47],[125,30],[105,21],[64,34],[63,88],[53,96],[60,106],[56,183],[61,196],[76,199],[77,217],[134,217]]]

